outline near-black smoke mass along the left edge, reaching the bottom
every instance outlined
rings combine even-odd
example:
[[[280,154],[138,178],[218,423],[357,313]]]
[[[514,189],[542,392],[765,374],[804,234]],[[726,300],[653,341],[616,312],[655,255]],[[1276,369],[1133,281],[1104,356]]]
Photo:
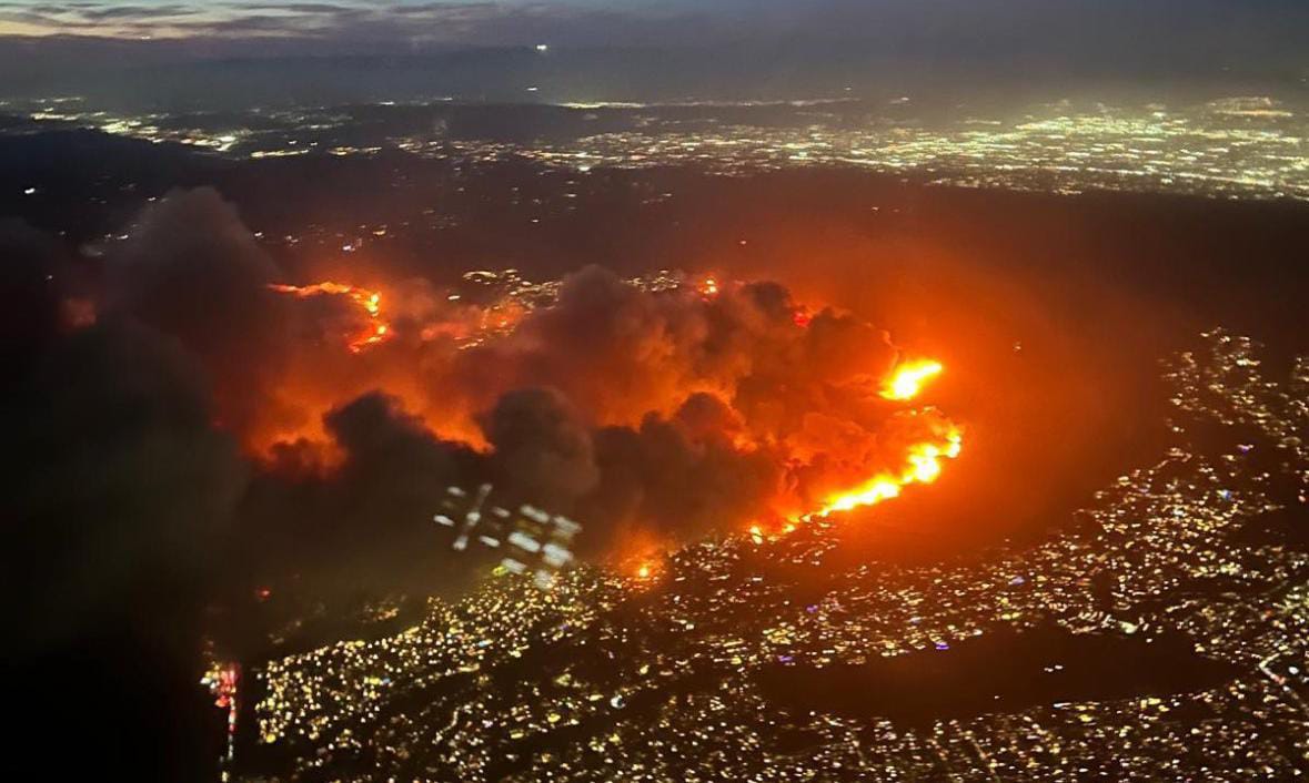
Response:
[[[117,758],[143,778],[199,779],[212,769],[196,727],[202,609],[246,465],[175,339],[127,316],[65,331],[76,286],[55,242],[5,226],[0,268],[21,320],[0,388],[0,660],[22,715],[10,741],[39,758],[75,741],[72,767]]]

